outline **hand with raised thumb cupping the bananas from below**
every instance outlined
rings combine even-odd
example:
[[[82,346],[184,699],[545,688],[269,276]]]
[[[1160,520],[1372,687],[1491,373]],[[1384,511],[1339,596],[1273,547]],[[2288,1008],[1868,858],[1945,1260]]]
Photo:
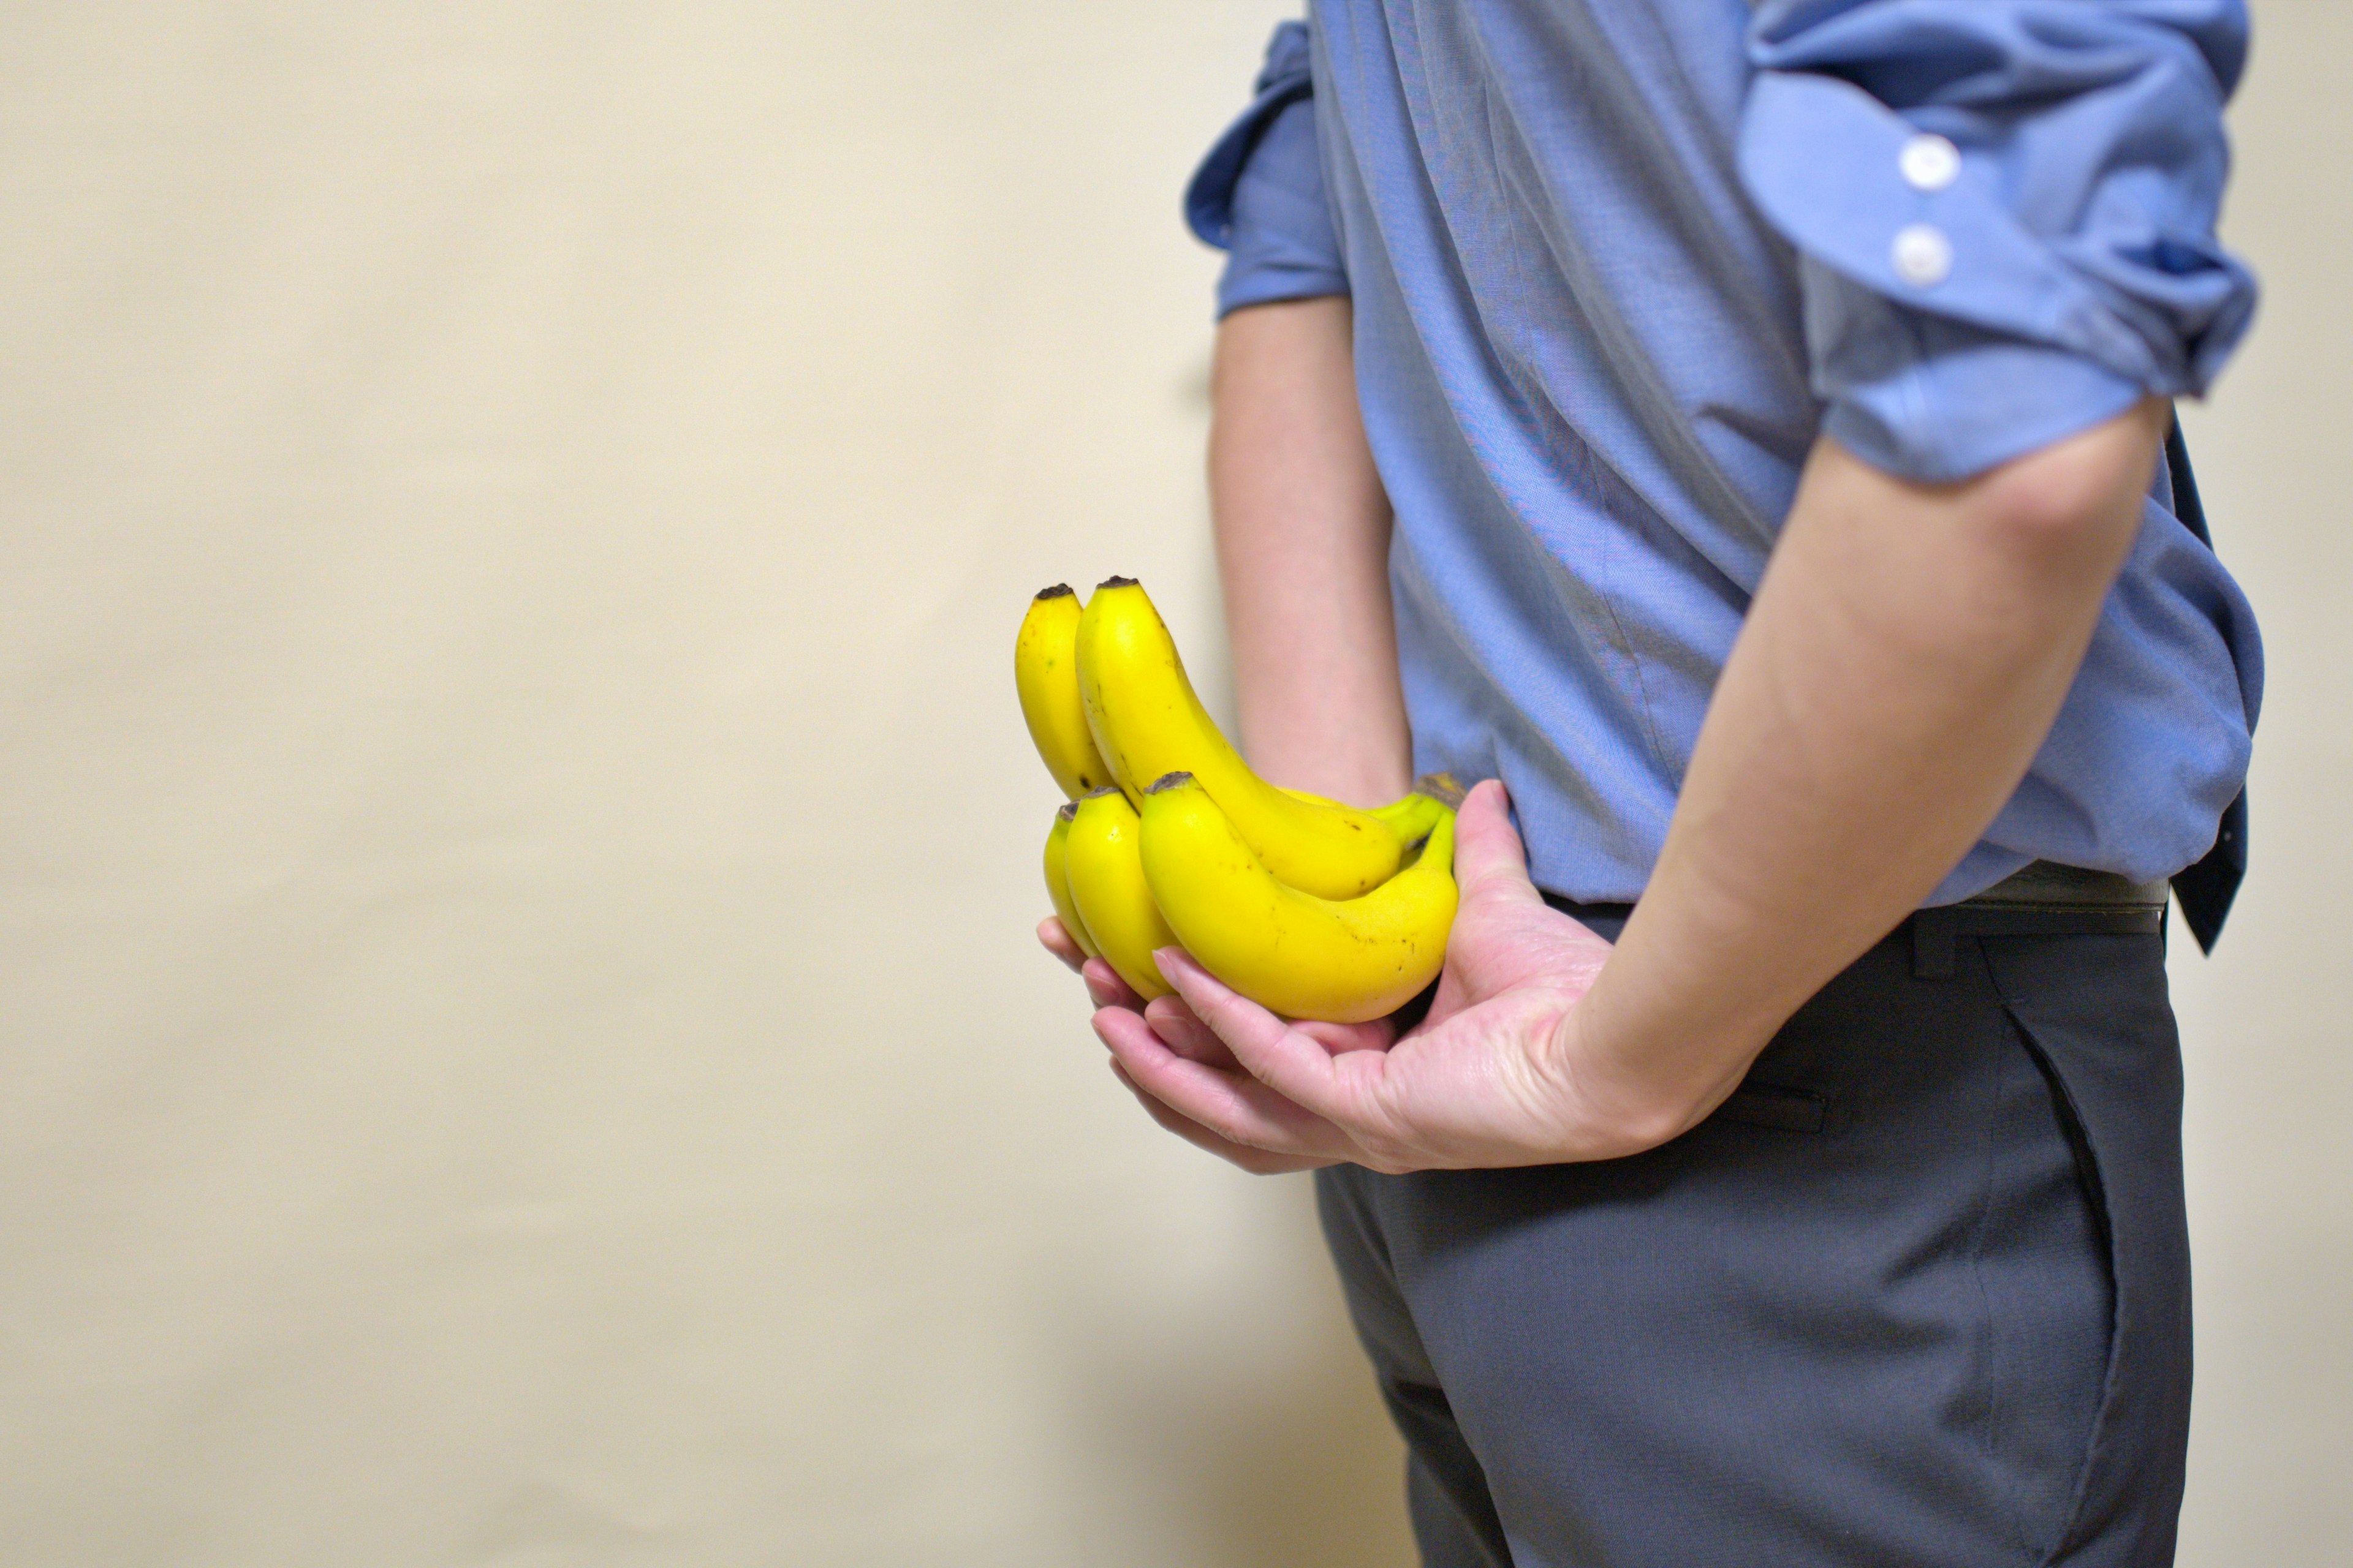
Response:
[[[1388,1048],[1365,1048],[1367,1025],[1337,1048],[1337,1025],[1285,1023],[1174,947],[1158,959],[1184,1013],[1106,1006],[1094,1030],[1155,1121],[1245,1168],[1612,1159],[1689,1126],[1704,1105],[1586,1039],[1579,1001],[1612,947],[1529,884],[1504,785],[1464,802],[1454,872],[1438,997]]]

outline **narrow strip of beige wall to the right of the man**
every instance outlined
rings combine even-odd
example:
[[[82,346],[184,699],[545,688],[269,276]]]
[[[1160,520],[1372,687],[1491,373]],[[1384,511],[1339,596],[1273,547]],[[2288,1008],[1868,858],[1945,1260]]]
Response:
[[[2188,1568],[2353,1561],[2353,7],[2257,0],[2224,237],[2254,336],[2184,428],[2264,623],[2252,870],[2214,959],[2174,950],[2198,1401]]]

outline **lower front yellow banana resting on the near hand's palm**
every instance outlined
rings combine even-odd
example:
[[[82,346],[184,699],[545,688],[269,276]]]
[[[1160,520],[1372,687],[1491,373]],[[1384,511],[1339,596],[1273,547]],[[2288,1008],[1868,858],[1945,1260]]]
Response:
[[[1421,856],[1360,898],[1285,886],[1209,790],[1169,773],[1144,797],[1144,877],[1202,969],[1285,1018],[1365,1023],[1438,978],[1454,926],[1454,811]]]

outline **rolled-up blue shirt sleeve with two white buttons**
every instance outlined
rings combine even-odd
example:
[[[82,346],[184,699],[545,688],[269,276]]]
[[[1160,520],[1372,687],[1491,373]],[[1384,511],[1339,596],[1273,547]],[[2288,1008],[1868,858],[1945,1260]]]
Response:
[[[1741,179],[1800,254],[1824,430],[1946,482],[2200,395],[2240,0],[1765,0]]]

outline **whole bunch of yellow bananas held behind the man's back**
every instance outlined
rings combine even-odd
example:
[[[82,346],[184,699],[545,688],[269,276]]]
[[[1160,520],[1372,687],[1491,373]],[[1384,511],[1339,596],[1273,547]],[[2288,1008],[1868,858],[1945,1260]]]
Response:
[[[1438,976],[1454,924],[1452,778],[1377,811],[1266,783],[1129,578],[1085,607],[1064,583],[1040,592],[1014,684],[1071,797],[1045,842],[1054,914],[1141,997],[1169,992],[1158,947],[1287,1018],[1332,1023],[1393,1013]]]

